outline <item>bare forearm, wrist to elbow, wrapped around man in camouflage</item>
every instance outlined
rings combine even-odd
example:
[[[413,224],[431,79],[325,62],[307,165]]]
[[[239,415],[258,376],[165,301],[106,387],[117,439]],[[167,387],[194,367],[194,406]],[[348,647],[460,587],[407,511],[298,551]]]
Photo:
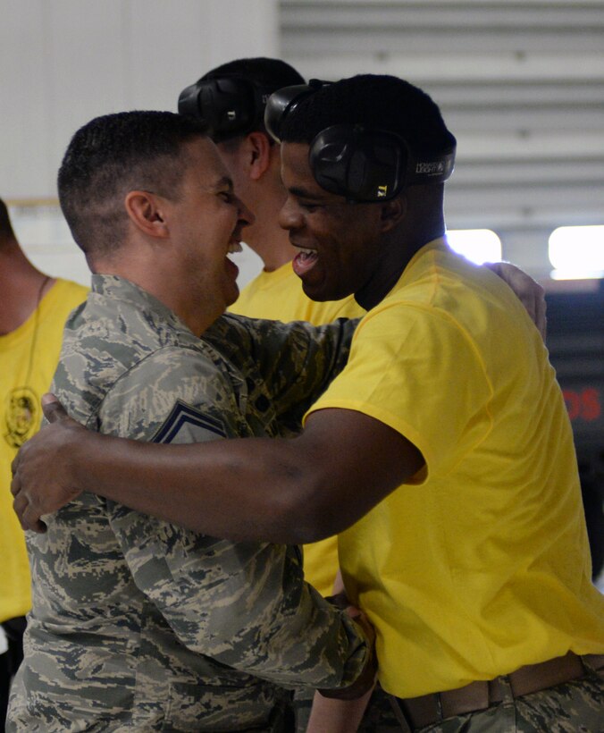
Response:
[[[65,460],[72,484],[173,524],[238,541],[304,543],[321,527],[305,491],[312,468],[298,465],[293,442],[161,445],[82,432]]]

